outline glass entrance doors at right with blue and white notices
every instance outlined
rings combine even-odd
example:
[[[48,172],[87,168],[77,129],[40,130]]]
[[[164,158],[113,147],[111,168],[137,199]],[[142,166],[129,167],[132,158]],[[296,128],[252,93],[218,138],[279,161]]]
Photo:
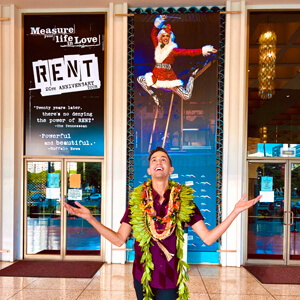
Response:
[[[300,161],[250,161],[247,261],[300,264]]]

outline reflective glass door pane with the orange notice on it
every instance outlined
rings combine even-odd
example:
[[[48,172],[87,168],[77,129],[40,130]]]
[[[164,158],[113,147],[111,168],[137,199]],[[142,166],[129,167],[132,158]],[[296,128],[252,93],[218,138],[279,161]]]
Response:
[[[101,221],[101,163],[67,163],[67,199],[90,209]],[[67,213],[67,255],[100,255],[100,234],[85,220]]]

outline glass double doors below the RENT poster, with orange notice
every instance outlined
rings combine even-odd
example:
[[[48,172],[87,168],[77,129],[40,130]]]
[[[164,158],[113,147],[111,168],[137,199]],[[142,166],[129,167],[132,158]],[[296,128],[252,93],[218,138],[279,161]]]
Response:
[[[25,168],[24,258],[102,259],[99,233],[61,205],[78,201],[101,220],[102,162],[27,159]]]

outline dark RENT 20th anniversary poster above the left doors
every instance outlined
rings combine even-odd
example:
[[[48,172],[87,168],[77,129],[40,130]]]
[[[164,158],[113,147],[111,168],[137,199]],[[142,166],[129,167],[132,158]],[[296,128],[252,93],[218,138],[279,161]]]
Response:
[[[105,15],[24,16],[26,155],[104,155]]]

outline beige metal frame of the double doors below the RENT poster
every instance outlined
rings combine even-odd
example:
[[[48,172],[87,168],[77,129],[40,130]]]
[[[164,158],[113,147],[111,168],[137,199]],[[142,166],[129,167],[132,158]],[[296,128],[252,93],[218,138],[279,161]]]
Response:
[[[61,203],[67,196],[67,163],[68,162],[97,162],[101,163],[101,195],[105,186],[104,158],[103,157],[25,157],[24,158],[24,184],[23,184],[23,258],[30,260],[54,260],[54,261],[103,261],[104,260],[104,238],[100,236],[100,255],[67,255],[67,210],[61,205],[60,221],[60,254],[27,254],[27,162],[60,162],[61,163]],[[104,200],[101,201],[101,214],[104,210]]]

